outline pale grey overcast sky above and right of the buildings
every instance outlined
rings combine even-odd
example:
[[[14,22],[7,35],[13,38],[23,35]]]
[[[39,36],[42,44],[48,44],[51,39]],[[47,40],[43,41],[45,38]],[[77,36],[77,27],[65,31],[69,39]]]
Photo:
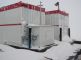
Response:
[[[0,0],[0,6],[9,5],[20,0]],[[57,9],[54,4],[59,1],[60,9],[69,13],[69,23],[71,27],[71,37],[77,40],[81,40],[81,0],[21,0],[26,3],[39,5],[42,1],[43,7],[46,10]]]

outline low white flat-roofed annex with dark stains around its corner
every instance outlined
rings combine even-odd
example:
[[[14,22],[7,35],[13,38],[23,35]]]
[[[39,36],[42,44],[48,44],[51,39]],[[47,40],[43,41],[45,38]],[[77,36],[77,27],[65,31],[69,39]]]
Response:
[[[54,26],[26,25],[22,40],[23,46],[27,48],[44,48],[51,45],[54,43]]]

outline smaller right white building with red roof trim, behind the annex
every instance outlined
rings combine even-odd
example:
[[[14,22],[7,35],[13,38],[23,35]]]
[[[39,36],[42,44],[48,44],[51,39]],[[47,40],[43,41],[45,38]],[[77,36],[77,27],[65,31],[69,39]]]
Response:
[[[60,11],[47,11],[45,12],[46,16],[46,25],[53,25],[54,26],[54,37],[55,40],[62,40],[62,37],[65,35],[70,36],[70,28],[69,28],[69,14]]]

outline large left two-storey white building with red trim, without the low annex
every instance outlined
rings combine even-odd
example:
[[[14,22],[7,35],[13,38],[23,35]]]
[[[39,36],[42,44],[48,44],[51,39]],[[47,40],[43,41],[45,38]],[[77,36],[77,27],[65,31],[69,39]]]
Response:
[[[40,23],[41,13],[41,23]],[[45,25],[45,8],[18,2],[0,8],[0,43],[22,46],[24,23]]]

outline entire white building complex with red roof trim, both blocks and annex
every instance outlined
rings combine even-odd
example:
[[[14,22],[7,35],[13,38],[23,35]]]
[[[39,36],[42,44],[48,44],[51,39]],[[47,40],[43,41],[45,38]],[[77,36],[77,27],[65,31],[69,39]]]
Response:
[[[0,43],[27,48],[45,47],[68,35],[68,18],[66,12],[45,12],[45,8],[23,2],[1,7]]]

